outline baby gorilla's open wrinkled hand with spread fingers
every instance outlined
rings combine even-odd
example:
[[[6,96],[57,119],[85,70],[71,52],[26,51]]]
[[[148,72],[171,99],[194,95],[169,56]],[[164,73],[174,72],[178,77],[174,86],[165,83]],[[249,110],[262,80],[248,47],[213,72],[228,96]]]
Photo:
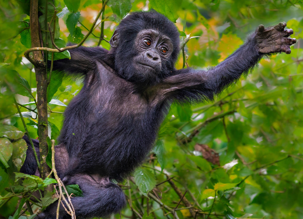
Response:
[[[285,27],[286,22],[280,22],[267,29],[263,25],[259,25],[255,33],[258,51],[261,53],[285,52],[290,54],[291,49],[289,47],[295,44],[297,40],[288,38],[294,31],[292,29],[284,30]]]

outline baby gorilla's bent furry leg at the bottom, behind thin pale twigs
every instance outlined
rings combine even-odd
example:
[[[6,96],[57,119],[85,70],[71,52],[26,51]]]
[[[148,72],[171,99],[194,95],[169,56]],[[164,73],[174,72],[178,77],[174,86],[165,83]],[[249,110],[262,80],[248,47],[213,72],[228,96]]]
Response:
[[[66,177],[63,181],[65,185],[78,184],[83,191],[83,196],[71,198],[77,218],[107,217],[112,213],[118,213],[126,205],[122,189],[108,178],[97,174],[77,174],[69,178]],[[38,215],[38,218],[56,218],[57,205],[58,201],[51,204]],[[59,218],[70,218],[62,203],[60,204]]]

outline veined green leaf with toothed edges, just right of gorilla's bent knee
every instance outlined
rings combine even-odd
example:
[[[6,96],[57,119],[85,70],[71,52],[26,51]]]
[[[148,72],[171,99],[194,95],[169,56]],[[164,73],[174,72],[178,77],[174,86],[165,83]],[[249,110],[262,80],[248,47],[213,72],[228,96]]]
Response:
[[[156,185],[154,174],[146,168],[139,168],[135,171],[134,177],[135,184],[138,186],[142,194],[147,197],[148,192],[150,192]]]

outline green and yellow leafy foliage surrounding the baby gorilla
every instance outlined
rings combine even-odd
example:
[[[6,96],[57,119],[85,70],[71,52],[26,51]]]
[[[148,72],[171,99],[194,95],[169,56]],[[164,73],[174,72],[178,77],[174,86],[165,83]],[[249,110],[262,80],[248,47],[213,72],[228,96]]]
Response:
[[[55,48],[52,39],[58,48],[80,42],[101,7],[99,0],[39,1],[41,29],[52,32],[52,37],[42,32],[44,46]],[[34,217],[23,206],[34,191],[44,197],[34,199],[33,213],[55,201],[46,190],[54,179],[17,173],[25,159],[26,130],[14,98],[28,134],[38,138],[35,73],[23,57],[31,47],[29,8],[29,0],[0,5],[0,214],[5,218]],[[114,26],[130,10],[150,8],[176,21],[181,40],[199,37],[187,42],[177,68],[217,65],[259,24],[285,21],[298,42],[290,55],[262,59],[247,79],[214,102],[173,105],[148,161],[122,185],[129,205],[121,217],[303,218],[303,1],[111,0],[84,45],[109,49]],[[69,58],[69,52],[48,52],[49,60],[60,58]],[[81,81],[54,74],[48,79],[48,135],[55,139]],[[81,195],[75,185],[70,192]]]

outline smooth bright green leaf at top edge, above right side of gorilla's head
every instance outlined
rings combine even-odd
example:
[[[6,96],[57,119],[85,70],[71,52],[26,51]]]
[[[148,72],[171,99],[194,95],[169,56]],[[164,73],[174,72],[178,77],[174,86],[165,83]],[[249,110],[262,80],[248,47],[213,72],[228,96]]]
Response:
[[[178,10],[180,9],[180,5],[183,0],[175,0],[175,1],[163,1],[163,0],[150,0],[149,3],[151,7],[155,9],[157,12],[165,15],[172,22],[176,22],[178,19]]]

